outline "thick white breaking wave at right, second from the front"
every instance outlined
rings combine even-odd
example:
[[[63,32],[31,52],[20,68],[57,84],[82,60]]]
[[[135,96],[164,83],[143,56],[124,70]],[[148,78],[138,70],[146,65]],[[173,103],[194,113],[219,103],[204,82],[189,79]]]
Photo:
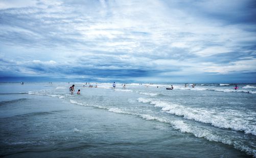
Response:
[[[220,128],[242,130],[246,134],[256,136],[256,126],[250,123],[250,118],[253,118],[253,116],[250,117],[248,114],[240,111],[230,110],[226,112],[219,112],[214,109],[189,108],[179,104],[153,100],[150,98],[138,98],[137,100],[138,102],[150,103],[155,107],[159,107],[166,113],[183,116],[185,119],[195,120],[202,123],[210,123],[213,126]],[[246,117],[241,117],[243,115],[246,115]]]

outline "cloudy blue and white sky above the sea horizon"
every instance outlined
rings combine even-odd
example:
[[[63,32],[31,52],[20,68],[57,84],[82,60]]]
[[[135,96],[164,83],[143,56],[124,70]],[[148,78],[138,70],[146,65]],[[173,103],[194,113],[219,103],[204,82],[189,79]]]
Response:
[[[254,0],[0,0],[0,82],[256,83]]]

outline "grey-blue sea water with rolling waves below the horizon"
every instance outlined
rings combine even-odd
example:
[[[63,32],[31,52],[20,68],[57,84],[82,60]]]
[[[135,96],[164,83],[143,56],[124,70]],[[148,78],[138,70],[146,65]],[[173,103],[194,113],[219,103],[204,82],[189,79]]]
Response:
[[[256,156],[256,84],[90,85],[0,84],[0,155]]]

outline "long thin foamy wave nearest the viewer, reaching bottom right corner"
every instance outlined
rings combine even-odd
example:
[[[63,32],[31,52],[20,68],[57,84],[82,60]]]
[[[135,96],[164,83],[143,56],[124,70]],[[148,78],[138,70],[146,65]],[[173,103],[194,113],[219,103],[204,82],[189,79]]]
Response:
[[[144,100],[145,102],[147,102],[146,98],[141,98],[141,100]],[[134,116],[140,117],[142,119],[146,119],[146,120],[155,120],[155,121],[158,121],[158,122],[168,123],[174,129],[177,129],[177,130],[181,131],[181,133],[190,133],[190,134],[193,134],[197,138],[204,138],[208,141],[221,142],[223,144],[232,145],[236,149],[239,149],[241,151],[245,151],[247,154],[251,154],[251,155],[254,155],[254,156],[256,155],[254,153],[254,150],[252,148],[248,147],[243,142],[240,142],[238,140],[234,140],[232,138],[227,138],[226,136],[216,135],[211,130],[203,129],[202,127],[197,127],[197,126],[194,126],[194,125],[191,125],[191,124],[188,124],[188,123],[184,123],[182,120],[169,120],[165,117],[157,117],[157,116],[152,116],[152,115],[148,115],[148,114],[140,114],[140,113],[129,112],[126,109],[107,108],[107,107],[101,107],[101,106],[98,106],[98,105],[89,105],[89,104],[84,104],[84,103],[81,103],[81,102],[77,102],[75,100],[70,100],[70,101],[71,101],[71,103],[79,104],[81,106],[98,107],[98,108],[101,108],[101,109],[106,109],[109,112],[113,112],[113,113],[134,115]]]

